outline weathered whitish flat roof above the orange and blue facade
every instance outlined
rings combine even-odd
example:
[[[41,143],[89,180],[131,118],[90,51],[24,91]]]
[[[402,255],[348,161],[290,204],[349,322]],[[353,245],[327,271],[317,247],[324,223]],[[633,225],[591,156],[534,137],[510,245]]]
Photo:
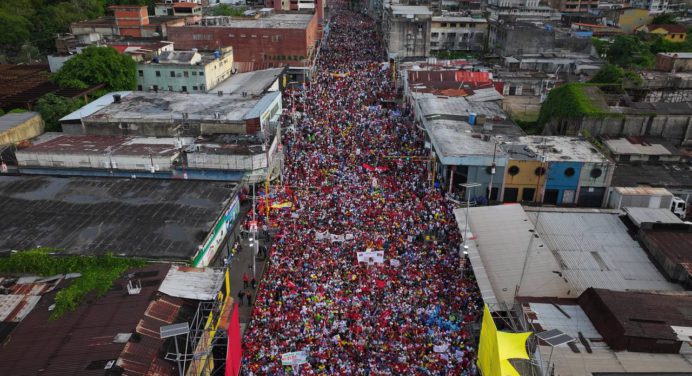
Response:
[[[590,142],[580,137],[565,136],[524,136],[517,144],[528,146],[536,155],[545,155],[551,162],[605,162],[607,159]]]

